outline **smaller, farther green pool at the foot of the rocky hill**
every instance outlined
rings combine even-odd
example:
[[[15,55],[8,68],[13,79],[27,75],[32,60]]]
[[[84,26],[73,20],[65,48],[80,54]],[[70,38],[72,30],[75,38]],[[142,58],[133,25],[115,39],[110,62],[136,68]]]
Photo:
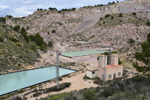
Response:
[[[71,52],[62,52],[61,55],[65,57],[80,57],[80,56],[88,56],[88,55],[95,55],[95,54],[101,54],[105,51],[100,50],[84,50],[84,51],[71,51]]]

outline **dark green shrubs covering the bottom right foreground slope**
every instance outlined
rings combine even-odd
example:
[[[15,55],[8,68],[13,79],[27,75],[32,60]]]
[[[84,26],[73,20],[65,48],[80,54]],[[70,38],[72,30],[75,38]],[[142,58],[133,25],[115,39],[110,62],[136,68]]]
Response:
[[[150,75],[111,81],[107,87],[97,87],[62,93],[41,100],[149,100]]]

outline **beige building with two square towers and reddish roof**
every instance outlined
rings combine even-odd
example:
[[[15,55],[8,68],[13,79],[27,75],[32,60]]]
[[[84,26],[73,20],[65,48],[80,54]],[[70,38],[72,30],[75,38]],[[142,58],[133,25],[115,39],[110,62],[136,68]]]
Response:
[[[87,69],[87,76],[90,78],[99,77],[103,81],[122,77],[123,73],[123,66],[118,65],[118,54],[111,54],[111,63],[109,65],[107,65],[106,55],[99,56],[98,67],[94,68]]]

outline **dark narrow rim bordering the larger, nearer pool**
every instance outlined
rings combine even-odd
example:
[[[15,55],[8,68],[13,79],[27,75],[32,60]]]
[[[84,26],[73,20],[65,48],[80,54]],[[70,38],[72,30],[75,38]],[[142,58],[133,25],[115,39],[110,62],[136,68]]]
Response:
[[[49,66],[49,67],[52,67],[52,66]],[[55,67],[56,67],[56,66],[55,66]],[[34,69],[29,69],[29,70],[23,70],[23,71],[36,70],[36,69],[41,69],[41,68],[47,68],[47,67],[40,67],[40,68],[34,68]],[[60,67],[60,68],[64,68],[64,67]],[[80,70],[74,70],[74,69],[69,69],[69,68],[64,68],[64,69],[72,70],[72,71],[74,71],[73,73],[76,73],[76,72],[79,72],[79,71],[80,71]],[[7,74],[13,74],[13,73],[23,72],[23,71],[16,71],[16,72],[11,72],[11,73],[7,73]],[[60,77],[66,77],[66,76],[68,76],[68,75],[70,75],[70,74],[73,74],[73,73],[64,74],[64,75],[62,75],[62,76],[60,76]],[[2,74],[2,75],[6,75],[6,74]],[[43,82],[40,82],[40,83],[31,85],[31,86],[27,86],[27,87],[24,87],[24,88],[15,90],[15,91],[11,91],[11,92],[2,94],[2,95],[0,95],[0,97],[1,97],[1,96],[5,96],[5,95],[9,95],[9,94],[11,94],[11,93],[15,93],[15,92],[17,92],[17,91],[19,91],[19,90],[22,90],[22,89],[26,89],[26,88],[29,88],[29,87],[32,87],[32,86],[40,85],[40,84],[42,84],[42,83],[46,83],[46,82],[51,81],[51,80],[54,80],[54,79],[56,79],[56,78],[52,78],[52,79],[49,79],[49,80],[46,80],[46,81],[43,81]],[[19,94],[19,93],[18,93],[18,94]]]

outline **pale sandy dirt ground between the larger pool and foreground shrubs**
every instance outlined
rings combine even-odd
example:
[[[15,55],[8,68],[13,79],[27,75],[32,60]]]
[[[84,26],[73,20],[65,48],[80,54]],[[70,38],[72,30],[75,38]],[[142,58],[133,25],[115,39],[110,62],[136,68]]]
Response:
[[[40,95],[37,99],[40,99],[41,97],[47,97],[48,95],[53,95],[53,94],[59,94],[59,93],[63,93],[63,92],[70,92],[70,91],[75,91],[75,90],[81,90],[84,88],[90,88],[90,87],[97,87],[98,85],[94,84],[92,80],[84,80],[83,77],[85,76],[85,73],[80,73],[77,74],[75,76],[72,76],[70,78],[63,78],[63,81],[61,81],[60,83],[64,83],[64,82],[71,82],[71,86],[69,88],[66,88],[62,91],[59,92],[52,92],[52,93],[48,93],[48,94],[42,94]],[[52,87],[55,86],[56,84],[53,83],[48,83],[46,84],[45,87]],[[36,100],[36,98],[29,98],[30,100]]]

